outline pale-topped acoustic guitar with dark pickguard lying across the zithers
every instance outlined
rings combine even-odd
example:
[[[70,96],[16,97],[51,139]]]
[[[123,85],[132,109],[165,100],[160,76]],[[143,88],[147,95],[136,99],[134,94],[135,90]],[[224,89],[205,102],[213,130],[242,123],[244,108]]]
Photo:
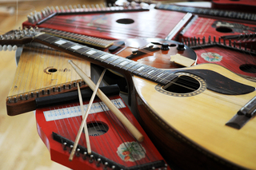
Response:
[[[186,168],[256,168],[255,82],[220,65],[157,69],[34,30],[16,37],[1,44],[39,42],[122,73],[134,87],[132,109],[165,159]]]

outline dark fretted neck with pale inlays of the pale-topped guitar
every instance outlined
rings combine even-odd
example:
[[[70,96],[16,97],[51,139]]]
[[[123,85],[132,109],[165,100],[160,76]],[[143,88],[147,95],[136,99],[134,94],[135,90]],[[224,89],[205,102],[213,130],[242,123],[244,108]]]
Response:
[[[34,41],[49,45],[55,49],[62,50],[77,57],[82,57],[96,65],[102,65],[110,69],[115,69],[119,72],[121,71],[122,73],[131,73],[133,75],[146,78],[150,81],[157,82],[161,85],[166,85],[168,82],[177,77],[177,75],[170,74],[166,70],[140,64],[136,61],[118,57],[98,49],[90,48],[86,45],[70,42],[63,38],[57,38],[50,34],[38,34],[38,36],[34,38]]]

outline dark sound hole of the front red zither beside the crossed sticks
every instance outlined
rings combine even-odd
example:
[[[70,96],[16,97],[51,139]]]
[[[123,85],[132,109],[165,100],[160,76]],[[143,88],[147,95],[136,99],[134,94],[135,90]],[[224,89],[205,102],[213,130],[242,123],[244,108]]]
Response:
[[[93,122],[87,124],[87,128],[90,136],[101,136],[109,130],[108,125],[102,122]]]

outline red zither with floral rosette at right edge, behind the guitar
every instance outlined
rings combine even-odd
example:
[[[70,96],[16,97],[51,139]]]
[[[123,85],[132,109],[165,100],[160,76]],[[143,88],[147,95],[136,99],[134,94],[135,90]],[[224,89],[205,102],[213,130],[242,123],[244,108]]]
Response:
[[[246,77],[256,77],[255,50],[236,45],[235,42],[222,44],[221,40],[209,38],[200,43],[200,38],[184,40],[184,43],[194,49],[198,56],[198,64],[215,63]]]

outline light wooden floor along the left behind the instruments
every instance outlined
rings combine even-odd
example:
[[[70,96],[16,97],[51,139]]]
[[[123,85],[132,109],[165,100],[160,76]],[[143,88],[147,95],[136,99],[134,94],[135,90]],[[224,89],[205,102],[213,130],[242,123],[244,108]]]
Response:
[[[2,2],[2,1],[1,1]],[[8,4],[7,4],[8,2]],[[102,0],[42,0],[18,2],[8,0],[0,6],[14,6],[13,15],[1,15],[0,34],[18,29],[26,21],[26,15],[46,6],[69,6],[94,4]],[[18,5],[18,10],[17,10]],[[50,153],[38,136],[34,113],[9,117],[6,113],[6,97],[16,70],[15,52],[0,52],[0,169],[5,170],[50,170],[69,169],[50,160]]]

